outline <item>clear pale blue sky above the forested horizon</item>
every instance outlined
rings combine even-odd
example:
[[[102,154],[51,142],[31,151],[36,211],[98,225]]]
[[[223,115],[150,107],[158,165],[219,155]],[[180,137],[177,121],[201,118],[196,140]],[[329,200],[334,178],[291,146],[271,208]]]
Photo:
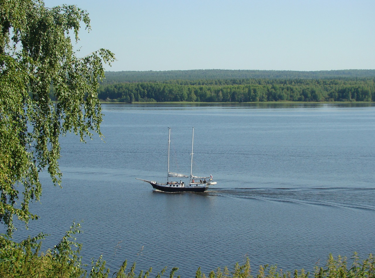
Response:
[[[90,14],[106,70],[375,69],[375,0],[46,0]]]

